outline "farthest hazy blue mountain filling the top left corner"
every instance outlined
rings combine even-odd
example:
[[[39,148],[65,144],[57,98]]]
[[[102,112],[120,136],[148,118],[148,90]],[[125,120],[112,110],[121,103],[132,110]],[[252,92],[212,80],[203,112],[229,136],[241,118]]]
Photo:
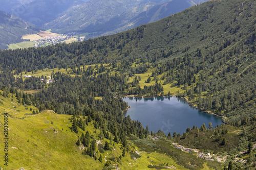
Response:
[[[34,25],[41,27],[58,17],[68,9],[81,5],[88,0],[9,0],[1,2],[0,10],[16,15]]]

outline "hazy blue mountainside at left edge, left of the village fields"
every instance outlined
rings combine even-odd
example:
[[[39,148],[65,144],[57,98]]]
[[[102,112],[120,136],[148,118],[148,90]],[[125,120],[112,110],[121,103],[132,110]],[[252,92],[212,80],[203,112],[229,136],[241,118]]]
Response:
[[[8,48],[6,44],[22,42],[23,35],[35,34],[39,28],[16,16],[0,11],[0,50]]]

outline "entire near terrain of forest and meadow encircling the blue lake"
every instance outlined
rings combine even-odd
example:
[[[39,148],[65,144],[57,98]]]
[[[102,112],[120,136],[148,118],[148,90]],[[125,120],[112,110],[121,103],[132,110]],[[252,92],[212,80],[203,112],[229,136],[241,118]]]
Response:
[[[254,3],[208,1],[114,35],[0,51],[1,168],[254,169]],[[123,116],[123,96],[177,96],[223,124],[150,132]]]

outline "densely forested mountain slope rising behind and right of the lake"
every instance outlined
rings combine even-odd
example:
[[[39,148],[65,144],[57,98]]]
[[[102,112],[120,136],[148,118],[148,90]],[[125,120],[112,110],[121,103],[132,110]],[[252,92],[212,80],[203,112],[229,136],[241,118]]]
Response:
[[[254,114],[254,8],[252,1],[210,1],[112,36],[5,51],[1,67],[20,72],[113,61],[129,67],[138,60],[161,69],[165,83],[185,86],[181,95],[198,107],[240,119]]]

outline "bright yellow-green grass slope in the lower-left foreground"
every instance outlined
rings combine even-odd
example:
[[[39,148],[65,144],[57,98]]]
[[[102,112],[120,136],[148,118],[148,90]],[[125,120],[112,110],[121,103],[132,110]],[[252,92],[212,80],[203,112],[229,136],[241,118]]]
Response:
[[[0,90],[0,92],[3,92]],[[116,161],[117,167],[121,169],[151,169],[148,165],[156,167],[175,166],[178,169],[186,169],[178,165],[174,159],[163,153],[144,152],[130,143],[131,150],[122,155],[122,145],[114,144],[109,139],[100,139],[100,130],[89,123],[86,130],[79,128],[78,134],[71,131],[71,115],[59,115],[51,110],[42,111],[38,114],[32,114],[37,110],[34,106],[23,106],[19,104],[15,97],[9,96],[4,98],[0,96],[0,127],[4,129],[4,113],[8,113],[8,166],[4,163],[0,167],[5,169],[102,169],[105,161]],[[105,141],[112,143],[111,150],[104,151],[96,146],[95,156],[97,160],[88,155],[82,155],[83,149],[80,150],[76,145],[78,136],[81,133],[89,131],[92,139],[97,139],[103,145]],[[0,133],[4,139],[4,132]],[[3,148],[5,144],[0,144],[1,155],[4,155]],[[99,151],[101,150],[101,151]],[[103,153],[101,153],[103,151]],[[139,156],[135,153],[138,153]],[[103,162],[98,159],[102,155]],[[137,155],[137,156],[136,156]],[[115,160],[113,161],[113,156]],[[135,158],[134,158],[135,157]],[[136,159],[137,157],[137,159]]]

